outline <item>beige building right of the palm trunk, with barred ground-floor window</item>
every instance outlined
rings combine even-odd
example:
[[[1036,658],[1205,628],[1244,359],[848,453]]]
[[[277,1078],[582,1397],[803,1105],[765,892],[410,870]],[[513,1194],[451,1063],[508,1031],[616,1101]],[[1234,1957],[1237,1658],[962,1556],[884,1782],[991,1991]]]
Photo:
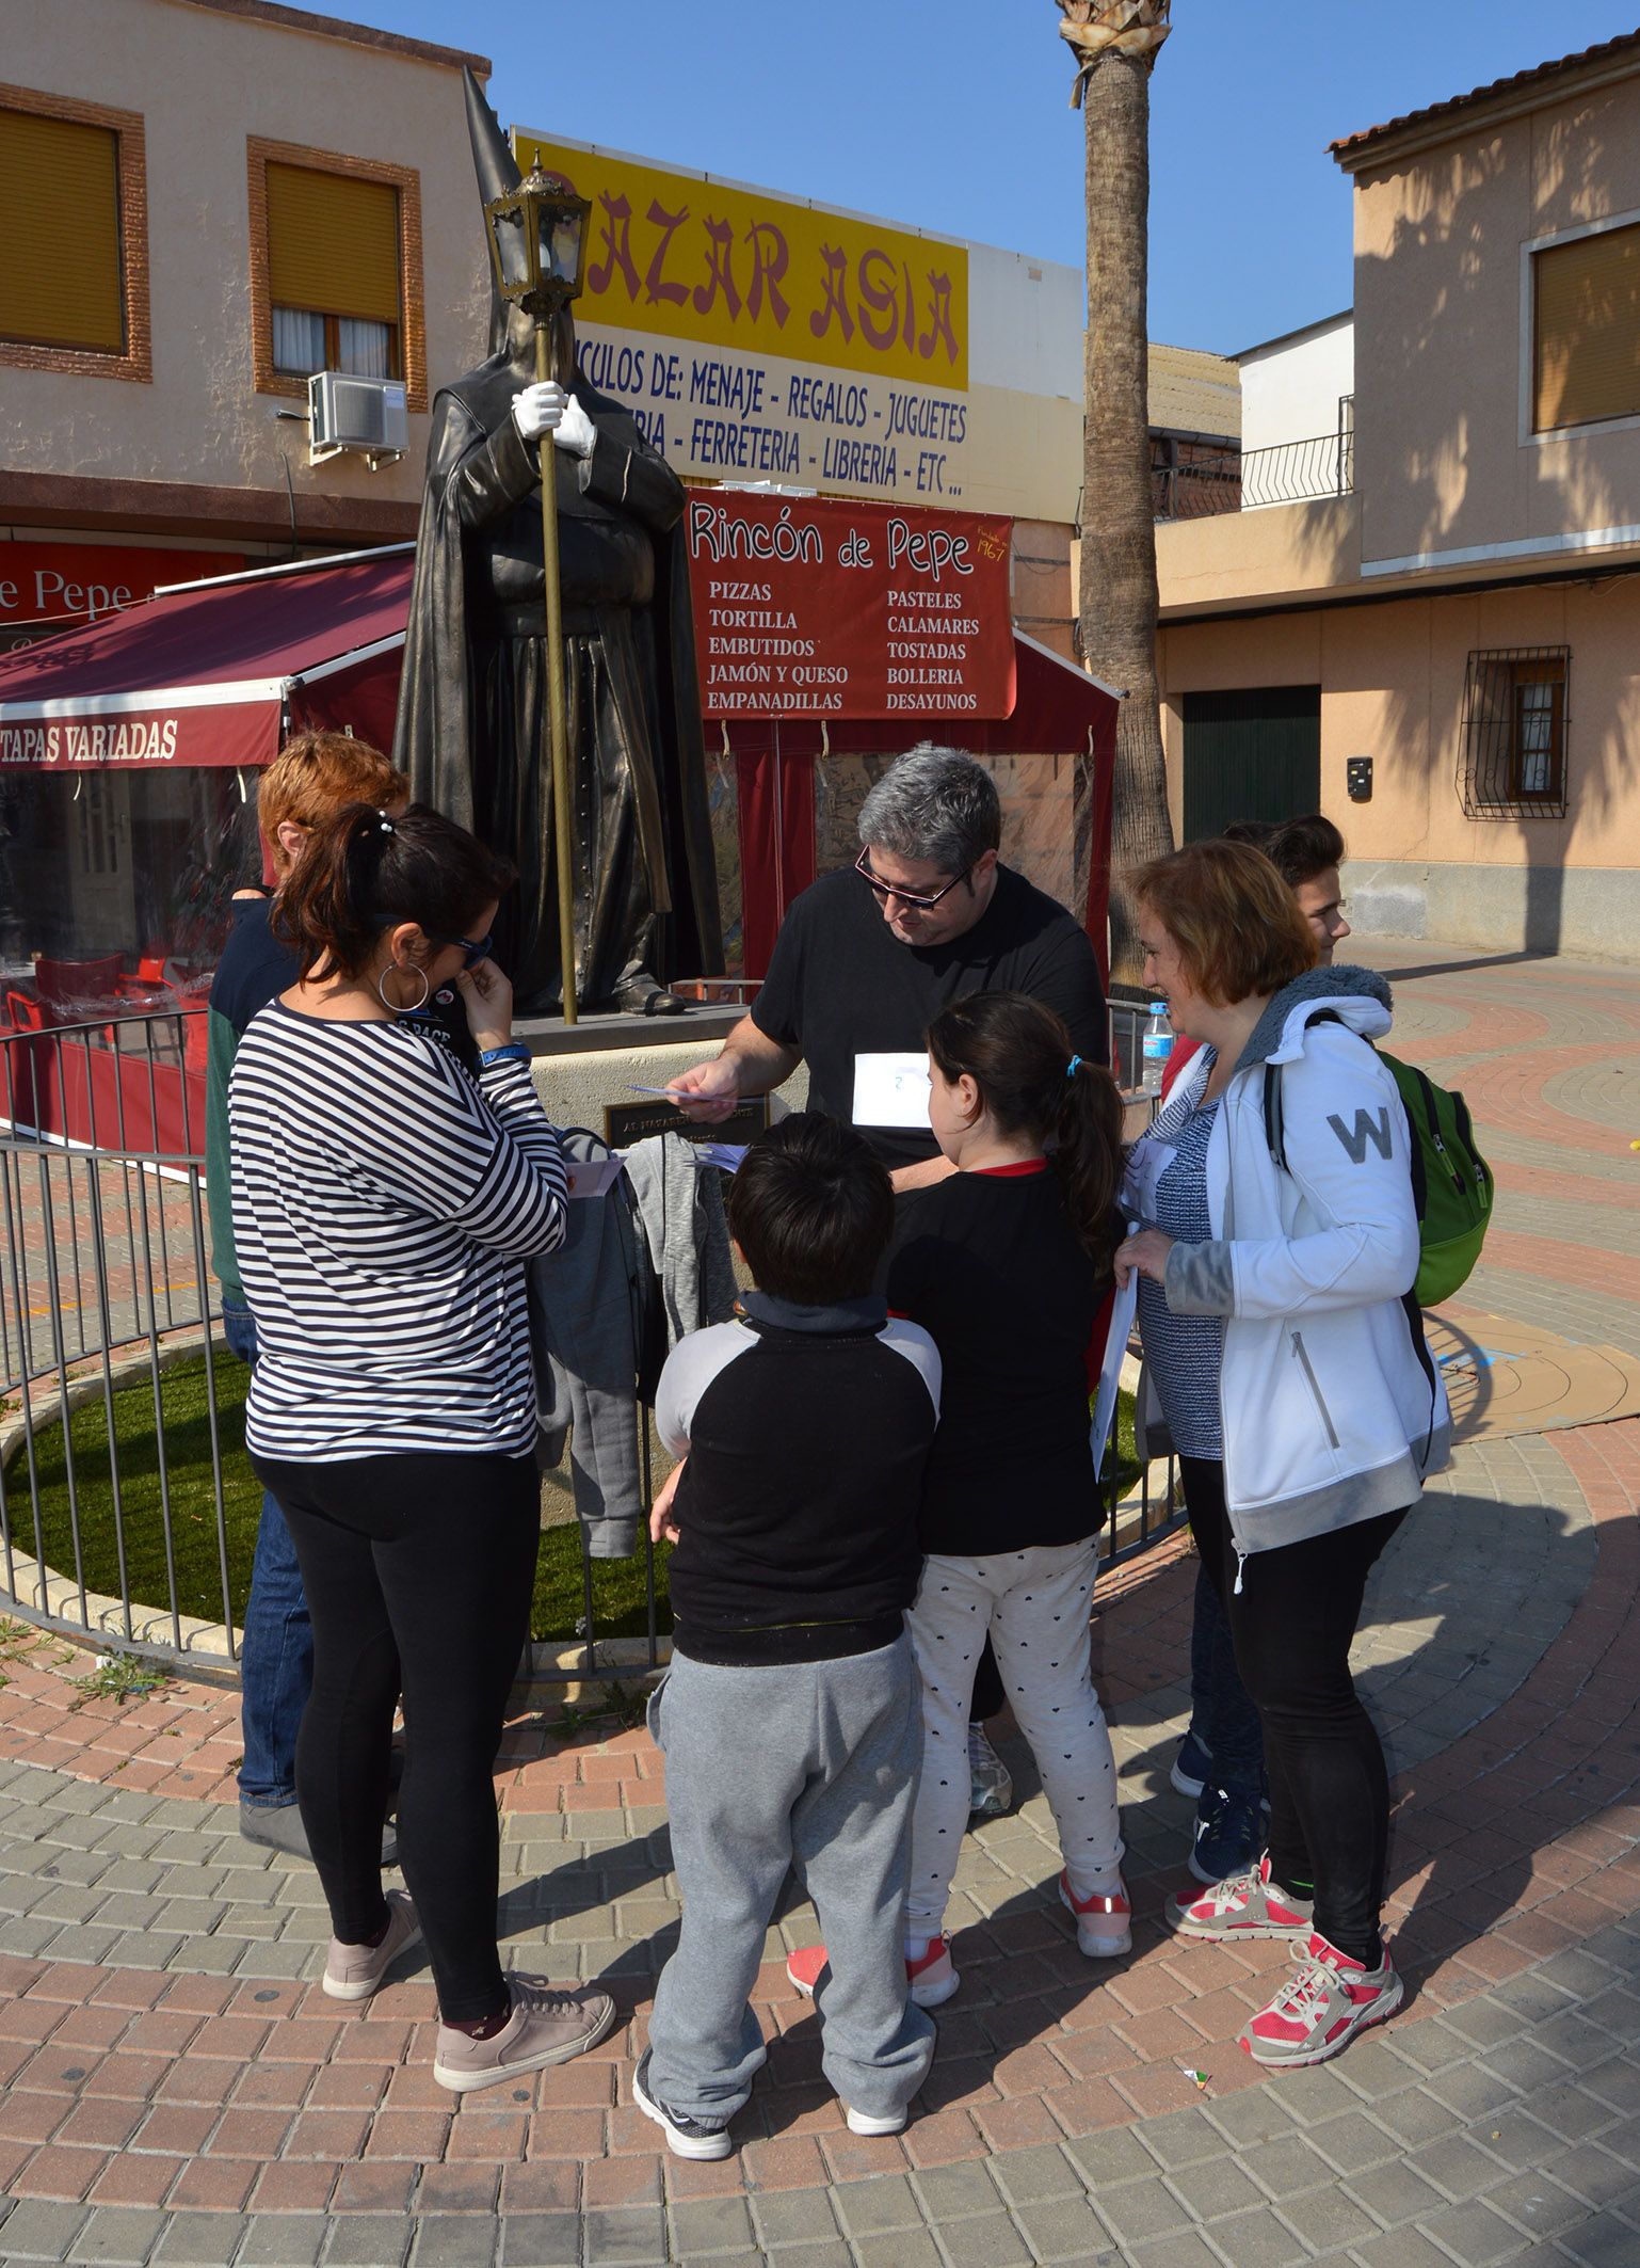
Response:
[[[1175,828],[1320,805],[1366,932],[1640,955],[1640,34],[1334,156],[1352,333],[1241,356],[1295,431],[1157,528]]]

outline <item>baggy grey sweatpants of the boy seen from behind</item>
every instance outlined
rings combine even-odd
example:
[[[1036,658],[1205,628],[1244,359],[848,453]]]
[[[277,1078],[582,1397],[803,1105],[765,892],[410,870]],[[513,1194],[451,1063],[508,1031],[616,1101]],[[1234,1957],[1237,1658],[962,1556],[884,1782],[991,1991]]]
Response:
[[[751,1989],[773,1903],[796,1867],[830,1975],[821,2064],[844,2102],[887,2118],[935,2057],[905,1991],[905,1869],[923,1753],[907,1637],[832,1662],[719,1669],[674,1656],[649,1706],[667,1755],[683,1935],[649,2021],[649,2093],[733,2118],[764,2064]]]

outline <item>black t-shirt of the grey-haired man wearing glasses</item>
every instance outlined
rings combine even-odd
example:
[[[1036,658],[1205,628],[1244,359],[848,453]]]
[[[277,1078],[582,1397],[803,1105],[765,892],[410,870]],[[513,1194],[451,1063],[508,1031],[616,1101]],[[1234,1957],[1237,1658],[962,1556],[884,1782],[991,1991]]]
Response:
[[[957,885],[962,887],[962,885]],[[1087,930],[1007,866],[984,914],[948,946],[903,946],[864,875],[828,873],[792,905],[751,1007],[783,1048],[801,1048],[810,1109],[853,1120],[855,1055],[914,1055],[941,1007],[978,991],[1023,991],[1055,1009],[1071,1046],[1109,1059],[1109,1023]],[[885,1166],[935,1157],[925,1127],[860,1132]]]

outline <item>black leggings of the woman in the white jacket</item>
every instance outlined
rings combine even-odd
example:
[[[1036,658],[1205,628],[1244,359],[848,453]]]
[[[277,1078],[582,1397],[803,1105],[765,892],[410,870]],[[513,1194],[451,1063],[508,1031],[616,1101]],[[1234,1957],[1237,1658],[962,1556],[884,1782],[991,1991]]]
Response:
[[[1350,1676],[1350,1640],[1372,1563],[1406,1517],[1379,1513],[1241,1567],[1225,1513],[1225,1467],[1182,1456],[1191,1535],[1225,1601],[1236,1669],[1263,1726],[1270,1873],[1316,1894],[1316,1928],[1377,1969],[1390,1826],[1384,1744]]]

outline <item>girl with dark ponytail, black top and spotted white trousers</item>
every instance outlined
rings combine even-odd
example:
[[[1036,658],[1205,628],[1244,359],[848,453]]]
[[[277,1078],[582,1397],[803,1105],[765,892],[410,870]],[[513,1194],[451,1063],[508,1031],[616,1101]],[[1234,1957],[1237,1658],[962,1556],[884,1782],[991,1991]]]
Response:
[[[1100,1504],[1089,1390],[1118,1222],[1121,1098],[1023,993],[955,1000],[928,1032],[928,1116],[957,1168],[903,1195],[889,1309],[944,1365],[923,1481],[928,1554],[907,1615],[923,1681],[923,1774],[905,1903],[907,1989],[957,1991],[944,1935],[969,1817],[969,1699],[987,1628],[1059,1828],[1059,1898],[1093,1960],[1127,1953],[1116,1760],[1091,1681]],[[787,1973],[812,1989],[823,1948]]]

